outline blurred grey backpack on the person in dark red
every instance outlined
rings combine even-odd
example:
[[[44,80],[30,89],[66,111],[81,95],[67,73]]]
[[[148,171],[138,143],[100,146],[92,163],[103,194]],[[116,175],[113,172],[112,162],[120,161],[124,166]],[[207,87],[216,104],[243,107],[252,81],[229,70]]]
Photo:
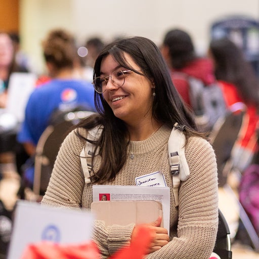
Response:
[[[182,72],[175,72],[174,75],[176,78],[184,77],[188,82],[191,107],[198,129],[210,132],[215,122],[225,117],[227,113],[227,105],[219,82],[205,85],[201,79]]]

